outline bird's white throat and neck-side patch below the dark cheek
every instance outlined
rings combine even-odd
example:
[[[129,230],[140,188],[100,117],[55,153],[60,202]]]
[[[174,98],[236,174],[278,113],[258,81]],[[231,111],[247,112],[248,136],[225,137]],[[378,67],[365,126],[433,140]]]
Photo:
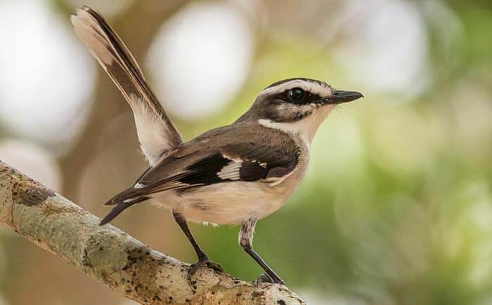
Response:
[[[307,118],[303,118],[302,120],[294,123],[278,123],[266,118],[259,119],[258,123],[261,126],[282,130],[284,133],[299,135],[300,137],[302,137],[302,140],[306,142],[307,147],[311,147],[311,142],[313,141],[313,137],[316,134],[316,131],[318,130],[321,123],[323,123],[326,116],[328,116],[328,114],[330,114],[330,112],[335,109],[335,107],[335,104],[323,106],[319,109],[316,109],[316,111],[314,111],[314,113]]]

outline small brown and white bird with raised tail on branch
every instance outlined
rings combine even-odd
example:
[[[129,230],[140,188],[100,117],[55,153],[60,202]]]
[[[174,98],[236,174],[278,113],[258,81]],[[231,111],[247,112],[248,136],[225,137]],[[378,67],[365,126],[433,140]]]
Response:
[[[311,142],[328,114],[363,95],[335,90],[315,79],[284,79],[262,90],[250,109],[230,125],[184,142],[134,56],[102,15],[82,6],[71,21],[131,107],[138,142],[149,163],[131,187],[105,203],[114,208],[101,225],[143,201],[168,208],[198,257],[190,265],[188,280],[203,266],[221,271],[200,248],[188,222],[239,225],[240,246],[269,281],[285,285],[254,250],[254,228],[304,179]]]

